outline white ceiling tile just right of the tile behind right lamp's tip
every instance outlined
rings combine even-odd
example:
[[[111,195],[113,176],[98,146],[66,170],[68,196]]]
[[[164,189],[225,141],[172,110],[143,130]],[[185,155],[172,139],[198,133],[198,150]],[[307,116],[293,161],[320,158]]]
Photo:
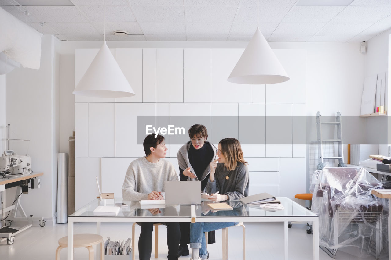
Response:
[[[272,36],[312,36],[326,23],[280,23]]]

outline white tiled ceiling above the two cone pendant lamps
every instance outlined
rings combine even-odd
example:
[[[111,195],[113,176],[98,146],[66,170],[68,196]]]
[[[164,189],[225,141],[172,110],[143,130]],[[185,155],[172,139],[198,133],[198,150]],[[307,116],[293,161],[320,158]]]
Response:
[[[0,0],[5,11],[63,41],[102,41],[103,4]],[[256,0],[106,0],[106,40],[249,41],[256,10]],[[258,19],[267,41],[361,42],[391,28],[391,0],[259,0]]]

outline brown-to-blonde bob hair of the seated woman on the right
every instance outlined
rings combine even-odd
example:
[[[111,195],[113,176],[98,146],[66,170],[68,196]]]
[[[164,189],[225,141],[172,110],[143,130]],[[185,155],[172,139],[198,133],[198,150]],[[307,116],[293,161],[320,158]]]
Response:
[[[242,147],[237,139],[224,138],[220,140],[219,144],[225,158],[224,166],[228,167],[228,171],[234,170],[238,166],[238,162],[248,164],[243,158]]]

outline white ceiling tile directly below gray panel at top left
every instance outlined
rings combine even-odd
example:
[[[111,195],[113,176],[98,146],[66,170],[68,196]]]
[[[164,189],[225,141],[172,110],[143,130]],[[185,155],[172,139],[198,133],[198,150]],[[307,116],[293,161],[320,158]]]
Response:
[[[29,6],[26,9],[43,22],[84,22],[83,14],[74,6]]]

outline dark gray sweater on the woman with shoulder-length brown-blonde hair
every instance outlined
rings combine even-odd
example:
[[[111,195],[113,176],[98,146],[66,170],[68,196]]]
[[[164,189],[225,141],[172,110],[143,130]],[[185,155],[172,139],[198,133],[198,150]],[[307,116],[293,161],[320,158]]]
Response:
[[[229,179],[226,179],[228,175]],[[233,171],[228,171],[224,164],[218,163],[215,172],[215,180],[211,182],[208,179],[206,193],[215,193],[228,196],[228,200],[240,199],[248,196],[249,173],[245,164],[239,162]]]

